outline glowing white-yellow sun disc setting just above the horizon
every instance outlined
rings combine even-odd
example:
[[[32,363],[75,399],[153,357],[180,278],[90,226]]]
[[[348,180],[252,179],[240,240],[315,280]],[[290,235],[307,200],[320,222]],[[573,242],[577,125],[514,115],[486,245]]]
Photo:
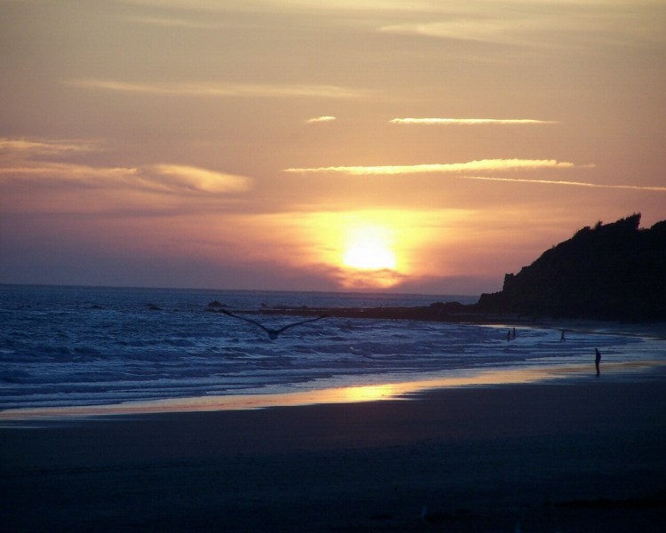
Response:
[[[384,227],[350,229],[342,263],[359,270],[395,270],[397,259],[390,232]]]

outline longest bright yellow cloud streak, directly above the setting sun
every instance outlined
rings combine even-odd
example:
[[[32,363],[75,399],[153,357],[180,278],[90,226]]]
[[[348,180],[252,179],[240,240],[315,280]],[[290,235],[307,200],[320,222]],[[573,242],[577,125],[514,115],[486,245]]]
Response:
[[[568,169],[574,163],[554,159],[481,159],[467,163],[433,163],[385,166],[331,166],[320,168],[290,168],[286,172],[349,174],[353,176],[424,174],[469,171],[519,171],[534,169]]]

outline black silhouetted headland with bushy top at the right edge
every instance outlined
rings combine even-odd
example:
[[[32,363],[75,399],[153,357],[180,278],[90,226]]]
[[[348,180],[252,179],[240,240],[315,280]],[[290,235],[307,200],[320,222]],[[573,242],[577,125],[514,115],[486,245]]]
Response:
[[[640,214],[583,227],[543,252],[503,290],[482,294],[489,313],[611,320],[666,319],[666,220],[638,229]]]

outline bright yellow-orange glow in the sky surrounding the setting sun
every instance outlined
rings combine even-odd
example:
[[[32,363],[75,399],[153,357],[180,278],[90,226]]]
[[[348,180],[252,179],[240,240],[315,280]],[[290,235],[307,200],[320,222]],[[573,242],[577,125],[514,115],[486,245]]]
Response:
[[[293,226],[304,255],[294,258],[319,268],[345,290],[390,289],[451,270],[443,254],[427,253],[456,243],[454,231],[476,215],[464,210],[320,211],[307,217],[267,219],[266,226]],[[264,230],[266,233],[266,230]],[[454,273],[457,274],[457,273]]]

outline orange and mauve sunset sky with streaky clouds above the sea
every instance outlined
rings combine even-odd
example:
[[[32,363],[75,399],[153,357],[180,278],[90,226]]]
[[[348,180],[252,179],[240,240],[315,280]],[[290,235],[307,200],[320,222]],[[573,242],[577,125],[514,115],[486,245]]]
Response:
[[[666,0],[0,0],[0,79],[4,283],[478,295],[666,219]]]

